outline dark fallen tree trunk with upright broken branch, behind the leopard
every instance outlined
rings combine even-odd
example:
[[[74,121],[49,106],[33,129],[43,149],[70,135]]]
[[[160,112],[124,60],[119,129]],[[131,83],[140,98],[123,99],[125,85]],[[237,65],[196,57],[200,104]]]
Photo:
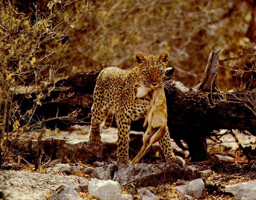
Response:
[[[180,86],[182,84],[177,82],[173,91],[165,91],[171,137],[177,143],[184,140],[188,144],[192,161],[202,161],[207,158],[205,136],[212,135],[213,130],[247,130],[256,135],[254,128],[256,117],[246,104],[237,100],[237,97],[243,98],[246,95],[255,97],[255,91],[200,92],[214,88],[216,77],[214,68],[219,62],[219,55],[220,49],[212,50],[203,79],[194,88]],[[90,123],[88,114],[93,103],[92,94],[100,70],[79,72],[59,80],[54,85],[48,84],[44,88],[39,86],[32,92],[32,98],[28,99],[24,98],[24,90],[17,88],[14,100],[20,102],[22,112],[26,112],[36,98],[36,91],[51,91],[50,95],[42,100],[42,106],[38,107],[35,112],[38,119],[46,120],[46,126],[54,128],[57,125],[61,129],[74,123]],[[48,120],[55,118],[56,114],[67,116],[74,110],[80,110],[78,119],[81,121]],[[142,127],[143,121],[132,123],[131,130],[145,131]]]

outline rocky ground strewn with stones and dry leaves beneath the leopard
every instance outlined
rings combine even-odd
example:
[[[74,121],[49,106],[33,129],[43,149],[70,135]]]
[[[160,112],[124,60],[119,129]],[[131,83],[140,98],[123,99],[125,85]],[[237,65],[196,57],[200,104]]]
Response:
[[[219,133],[224,134],[220,140],[208,139],[209,160],[204,162],[191,163],[189,152],[173,142],[176,153],[185,158],[184,167],[161,163],[157,145],[142,164],[115,164],[116,146],[111,142],[117,139],[116,130],[102,133],[105,142],[98,146],[86,142],[87,133],[88,126],[75,126],[50,135],[72,140],[51,140],[54,160],[42,164],[38,172],[26,162],[6,164],[0,171],[0,199],[256,199],[255,157],[248,160],[225,131]],[[237,138],[244,147],[256,146],[255,137],[248,133],[237,133]],[[90,156],[81,162],[82,152]]]

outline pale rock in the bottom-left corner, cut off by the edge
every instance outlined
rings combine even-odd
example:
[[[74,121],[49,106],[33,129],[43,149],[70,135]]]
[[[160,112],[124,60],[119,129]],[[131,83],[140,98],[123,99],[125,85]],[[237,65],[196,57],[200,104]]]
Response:
[[[45,196],[38,194],[24,194],[15,189],[5,189],[0,192],[3,200],[46,200]]]

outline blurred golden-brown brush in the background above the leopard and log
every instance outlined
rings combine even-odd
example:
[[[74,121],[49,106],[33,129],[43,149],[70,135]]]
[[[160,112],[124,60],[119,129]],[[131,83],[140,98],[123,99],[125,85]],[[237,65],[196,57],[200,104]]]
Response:
[[[47,1],[16,1],[19,12],[33,20],[33,3],[44,12]],[[65,11],[79,11],[80,1]],[[65,51],[53,54],[44,62],[65,66],[67,76],[85,69],[116,66],[135,67],[133,55],[159,55],[169,52],[169,67],[174,77],[188,87],[196,85],[204,73],[209,53],[214,47],[223,49],[218,75],[222,90],[235,88],[237,81],[230,72],[244,45],[255,41],[255,6],[253,0],[94,0],[94,5],[78,26],[60,43],[44,44],[52,48],[69,39]],[[61,16],[60,16],[61,17]],[[246,52],[248,51],[248,52]],[[45,52],[42,50],[42,52]],[[250,62],[254,53],[244,49]],[[248,59],[247,59],[248,61]],[[238,64],[239,65],[239,64]],[[247,65],[245,63],[245,65]],[[248,73],[251,77],[253,72]]]

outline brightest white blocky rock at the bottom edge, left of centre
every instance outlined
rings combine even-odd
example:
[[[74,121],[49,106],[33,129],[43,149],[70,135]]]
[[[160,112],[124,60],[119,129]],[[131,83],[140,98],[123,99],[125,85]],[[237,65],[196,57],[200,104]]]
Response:
[[[121,194],[121,188],[116,181],[98,180],[95,178],[89,182],[88,192],[89,197],[111,200],[116,194]]]

